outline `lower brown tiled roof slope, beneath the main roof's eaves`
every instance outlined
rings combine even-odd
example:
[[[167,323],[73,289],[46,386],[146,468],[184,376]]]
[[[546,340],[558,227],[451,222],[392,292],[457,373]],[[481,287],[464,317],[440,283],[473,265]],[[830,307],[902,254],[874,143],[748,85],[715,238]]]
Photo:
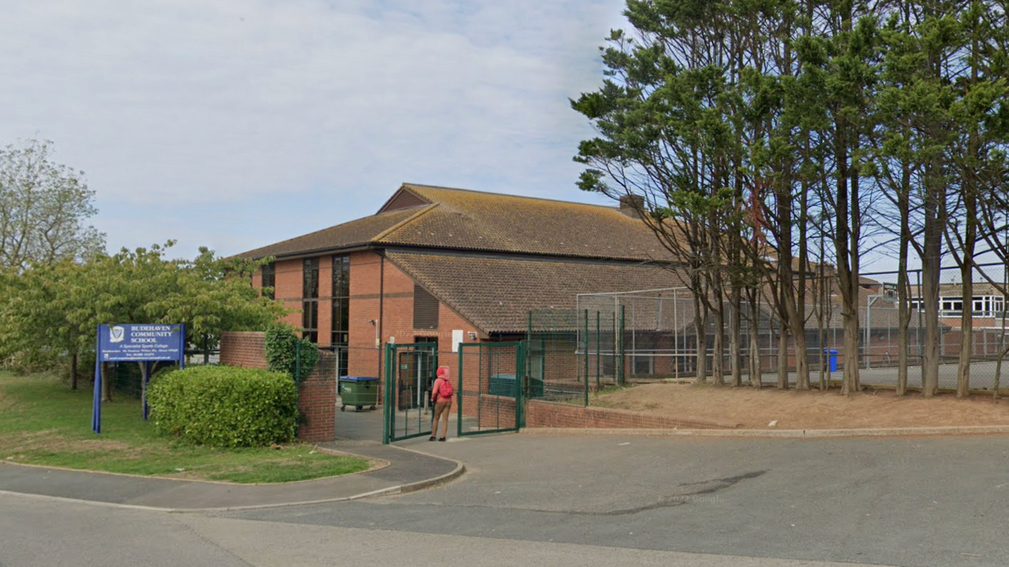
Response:
[[[529,312],[574,309],[578,294],[682,286],[654,266],[386,252],[385,257],[484,332],[523,332]]]

